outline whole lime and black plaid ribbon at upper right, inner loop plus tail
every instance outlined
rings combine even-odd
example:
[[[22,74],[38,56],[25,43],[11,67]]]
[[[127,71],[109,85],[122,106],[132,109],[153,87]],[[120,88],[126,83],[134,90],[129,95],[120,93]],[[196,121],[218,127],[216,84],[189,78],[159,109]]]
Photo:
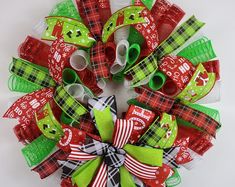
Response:
[[[188,41],[205,23],[197,20],[195,16],[189,18],[176,31],[174,31],[157,49],[148,57],[127,70],[125,74],[131,76],[131,87],[140,85],[140,82],[149,78],[158,69],[157,61],[181,47]]]

